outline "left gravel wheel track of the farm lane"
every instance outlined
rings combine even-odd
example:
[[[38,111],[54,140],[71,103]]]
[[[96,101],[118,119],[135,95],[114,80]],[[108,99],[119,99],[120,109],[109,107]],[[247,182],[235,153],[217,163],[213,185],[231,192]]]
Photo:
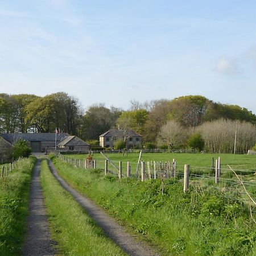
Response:
[[[41,160],[38,159],[31,181],[28,233],[22,255],[55,255],[56,253],[53,249],[55,242],[52,241],[49,232],[43,191],[40,186],[40,167]]]

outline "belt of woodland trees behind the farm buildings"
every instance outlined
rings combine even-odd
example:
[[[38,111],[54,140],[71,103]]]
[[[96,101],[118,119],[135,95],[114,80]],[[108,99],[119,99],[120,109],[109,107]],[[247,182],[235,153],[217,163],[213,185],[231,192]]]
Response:
[[[213,102],[203,96],[138,102],[129,110],[95,104],[84,110],[67,93],[44,97],[0,94],[0,133],[48,133],[55,128],[97,144],[112,127],[133,129],[146,148],[192,148],[208,152],[245,153],[256,143],[256,116],[237,105]]]

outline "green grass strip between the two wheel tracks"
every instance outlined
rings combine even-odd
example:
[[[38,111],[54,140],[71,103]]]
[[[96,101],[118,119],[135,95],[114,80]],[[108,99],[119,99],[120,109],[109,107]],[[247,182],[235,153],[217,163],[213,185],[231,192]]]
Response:
[[[40,178],[52,237],[61,255],[126,255],[60,186],[45,159]]]

